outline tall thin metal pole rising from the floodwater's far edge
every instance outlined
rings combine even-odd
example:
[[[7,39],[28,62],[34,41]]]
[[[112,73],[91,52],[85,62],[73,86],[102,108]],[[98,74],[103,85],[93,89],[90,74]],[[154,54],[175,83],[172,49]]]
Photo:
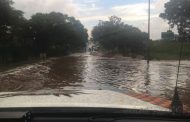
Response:
[[[150,0],[148,0],[148,45],[147,45],[147,64],[149,64],[150,57]]]

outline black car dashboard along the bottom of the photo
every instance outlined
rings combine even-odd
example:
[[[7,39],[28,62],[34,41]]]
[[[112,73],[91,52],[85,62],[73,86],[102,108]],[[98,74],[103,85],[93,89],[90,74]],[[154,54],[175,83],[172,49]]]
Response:
[[[4,108],[0,122],[190,122],[188,114],[115,108]]]

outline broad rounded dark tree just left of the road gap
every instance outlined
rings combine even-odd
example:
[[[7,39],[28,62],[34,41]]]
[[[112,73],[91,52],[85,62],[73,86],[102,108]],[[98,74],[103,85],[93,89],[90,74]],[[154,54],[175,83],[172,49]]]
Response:
[[[62,13],[37,13],[30,19],[33,46],[36,54],[41,52],[64,54],[86,46],[87,30],[74,17]]]

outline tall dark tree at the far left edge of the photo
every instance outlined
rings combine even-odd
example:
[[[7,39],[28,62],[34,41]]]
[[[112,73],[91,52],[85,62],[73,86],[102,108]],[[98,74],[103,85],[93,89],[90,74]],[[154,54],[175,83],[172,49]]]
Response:
[[[11,0],[0,1],[0,60],[2,63],[7,63],[16,56],[26,22],[23,12],[14,9],[12,4]]]

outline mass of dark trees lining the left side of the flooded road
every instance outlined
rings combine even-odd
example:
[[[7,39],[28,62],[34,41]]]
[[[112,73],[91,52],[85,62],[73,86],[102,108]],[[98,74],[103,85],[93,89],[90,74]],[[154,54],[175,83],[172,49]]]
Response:
[[[74,17],[59,12],[36,13],[30,19],[0,0],[0,63],[82,51],[88,41],[87,29]]]

